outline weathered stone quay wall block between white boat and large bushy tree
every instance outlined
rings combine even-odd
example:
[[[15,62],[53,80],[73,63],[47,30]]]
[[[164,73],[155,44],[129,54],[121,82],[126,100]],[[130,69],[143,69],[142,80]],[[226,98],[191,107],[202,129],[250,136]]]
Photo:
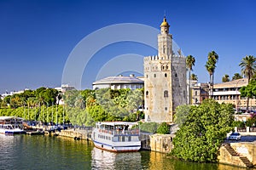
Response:
[[[150,148],[152,151],[170,153],[173,144],[174,134],[153,134],[150,135]]]

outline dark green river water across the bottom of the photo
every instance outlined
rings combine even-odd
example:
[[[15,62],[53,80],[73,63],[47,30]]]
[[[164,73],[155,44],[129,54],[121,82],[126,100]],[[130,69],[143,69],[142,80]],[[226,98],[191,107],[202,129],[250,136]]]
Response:
[[[113,153],[85,140],[0,134],[0,169],[244,170],[241,167],[174,160],[150,151]]]

